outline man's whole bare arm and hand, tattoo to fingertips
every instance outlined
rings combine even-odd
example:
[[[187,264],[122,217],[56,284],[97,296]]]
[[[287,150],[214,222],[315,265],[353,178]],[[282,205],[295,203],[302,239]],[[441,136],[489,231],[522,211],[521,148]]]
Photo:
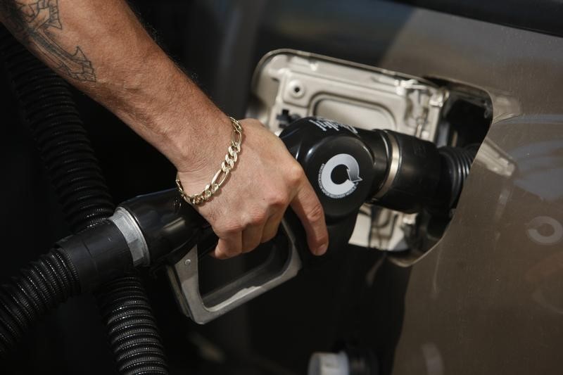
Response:
[[[0,0],[0,13],[39,58],[163,152],[186,193],[209,184],[232,141],[230,121],[165,56],[124,0]],[[305,172],[260,122],[242,123],[240,160],[228,186],[196,207],[219,237],[215,256],[272,239],[289,205],[310,249],[324,253],[324,214]]]

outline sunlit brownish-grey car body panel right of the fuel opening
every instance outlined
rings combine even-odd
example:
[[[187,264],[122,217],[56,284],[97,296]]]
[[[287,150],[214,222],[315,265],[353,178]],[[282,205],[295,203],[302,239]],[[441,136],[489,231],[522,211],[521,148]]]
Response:
[[[412,267],[393,374],[559,374],[563,40],[417,10],[379,66],[480,87],[494,112],[450,227]]]

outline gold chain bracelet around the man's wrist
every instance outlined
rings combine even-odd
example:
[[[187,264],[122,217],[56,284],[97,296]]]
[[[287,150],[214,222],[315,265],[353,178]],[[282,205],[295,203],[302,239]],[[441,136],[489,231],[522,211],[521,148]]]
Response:
[[[189,196],[184,191],[184,186],[182,186],[182,182],[178,174],[176,174],[176,186],[178,187],[178,191],[182,198],[184,198],[184,201],[191,205],[201,205],[209,201],[210,198],[213,197],[213,194],[217,193],[222,184],[227,180],[229,173],[236,164],[236,160],[239,160],[242,144],[242,126],[241,123],[233,117],[229,117],[229,120],[231,120],[231,124],[233,125],[233,132],[231,134],[231,144],[229,145],[228,153],[224,156],[221,169],[215,173],[215,176],[213,176],[211,182],[205,186],[205,189],[203,189],[201,193]]]

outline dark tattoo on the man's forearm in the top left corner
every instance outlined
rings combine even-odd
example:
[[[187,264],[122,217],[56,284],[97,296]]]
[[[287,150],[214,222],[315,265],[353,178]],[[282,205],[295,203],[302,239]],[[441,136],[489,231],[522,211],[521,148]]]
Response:
[[[58,72],[78,81],[96,82],[94,67],[80,46],[70,53],[56,41],[54,31],[63,30],[58,0],[0,0],[0,12],[9,23],[6,26],[51,61]]]

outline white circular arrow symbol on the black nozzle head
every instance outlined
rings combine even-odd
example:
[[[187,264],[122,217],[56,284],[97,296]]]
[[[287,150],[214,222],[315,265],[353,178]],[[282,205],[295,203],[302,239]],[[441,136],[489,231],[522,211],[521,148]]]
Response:
[[[344,165],[348,171],[348,179],[341,184],[336,184],[332,180],[332,171],[339,165]],[[343,198],[352,193],[358,182],[362,181],[360,178],[360,165],[352,155],[347,153],[339,153],[334,155],[322,165],[320,170],[320,187],[322,191],[331,198]]]

